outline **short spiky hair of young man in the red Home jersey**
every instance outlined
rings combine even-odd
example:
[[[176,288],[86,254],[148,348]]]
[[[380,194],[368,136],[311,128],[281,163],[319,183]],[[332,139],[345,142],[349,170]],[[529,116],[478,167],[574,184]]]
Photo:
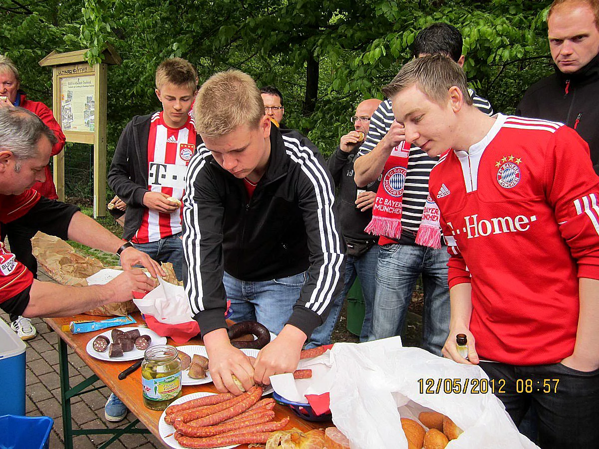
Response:
[[[472,105],[464,70],[444,54],[431,54],[408,62],[393,81],[383,87],[383,95],[391,98],[414,85],[440,105],[447,101],[450,87],[456,86],[461,90],[465,104]]]

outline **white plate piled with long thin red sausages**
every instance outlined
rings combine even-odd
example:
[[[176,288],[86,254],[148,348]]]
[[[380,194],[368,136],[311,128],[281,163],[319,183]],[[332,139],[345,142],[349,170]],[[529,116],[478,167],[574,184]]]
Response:
[[[260,387],[252,387],[240,396],[205,392],[183,396],[162,413],[158,431],[174,449],[264,444],[270,432],[287,426],[289,418],[274,421],[274,399],[260,399],[261,395]]]

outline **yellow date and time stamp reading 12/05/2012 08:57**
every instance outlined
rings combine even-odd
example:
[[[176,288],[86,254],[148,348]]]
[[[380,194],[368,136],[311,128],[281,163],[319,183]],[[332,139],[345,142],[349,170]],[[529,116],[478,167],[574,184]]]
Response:
[[[516,393],[557,393],[559,379],[518,379],[516,380]],[[450,379],[428,378],[418,379],[420,394],[450,393],[485,395],[494,393],[501,395],[507,392],[505,379]]]

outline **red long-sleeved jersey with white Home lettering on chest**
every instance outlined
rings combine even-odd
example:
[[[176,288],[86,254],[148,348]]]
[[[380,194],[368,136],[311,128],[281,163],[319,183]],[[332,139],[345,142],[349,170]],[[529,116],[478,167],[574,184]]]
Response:
[[[599,178],[567,126],[503,116],[482,141],[432,169],[449,287],[471,283],[481,359],[512,365],[570,356],[579,277],[599,279]]]

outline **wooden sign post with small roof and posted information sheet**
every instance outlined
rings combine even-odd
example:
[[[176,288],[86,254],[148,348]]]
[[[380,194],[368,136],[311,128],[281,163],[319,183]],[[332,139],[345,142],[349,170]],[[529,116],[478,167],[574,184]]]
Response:
[[[106,215],[106,104],[108,64],[122,60],[108,47],[104,62],[89,65],[87,50],[52,51],[40,65],[52,66],[53,111],[67,142],[93,144],[93,217]],[[54,156],[54,183],[65,199],[65,152]]]

